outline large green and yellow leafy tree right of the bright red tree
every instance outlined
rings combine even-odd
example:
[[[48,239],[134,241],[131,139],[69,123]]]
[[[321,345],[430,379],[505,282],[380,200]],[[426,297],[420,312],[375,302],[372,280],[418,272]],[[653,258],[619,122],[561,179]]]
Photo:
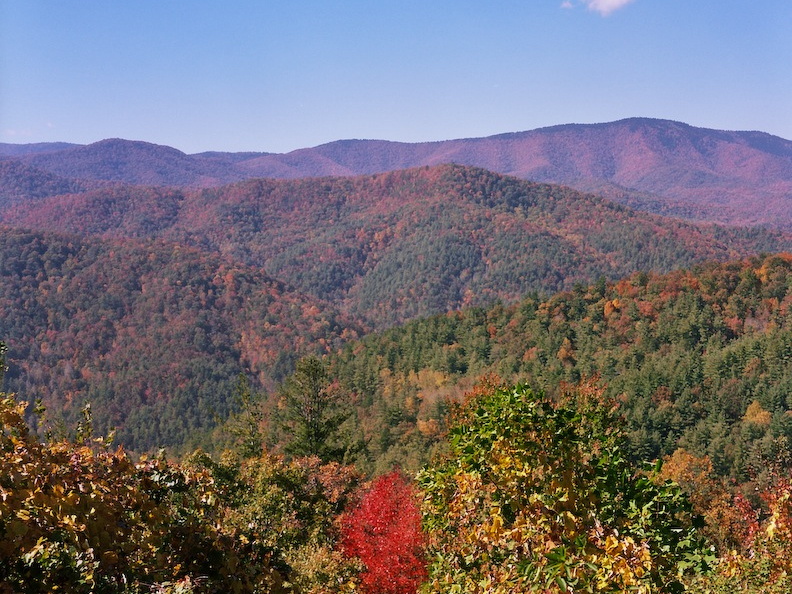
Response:
[[[423,471],[433,592],[674,592],[706,569],[690,506],[624,458],[599,393],[524,387],[468,402]]]

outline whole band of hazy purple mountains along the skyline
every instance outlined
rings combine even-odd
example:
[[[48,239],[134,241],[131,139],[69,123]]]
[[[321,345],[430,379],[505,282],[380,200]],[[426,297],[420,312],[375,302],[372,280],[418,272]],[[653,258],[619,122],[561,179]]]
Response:
[[[4,151],[9,149],[0,146]],[[339,140],[285,154],[187,155],[119,139],[55,151],[39,146],[27,155],[16,151],[13,158],[64,177],[180,187],[456,163],[569,185],[660,214],[792,227],[792,141],[650,118],[437,142]]]

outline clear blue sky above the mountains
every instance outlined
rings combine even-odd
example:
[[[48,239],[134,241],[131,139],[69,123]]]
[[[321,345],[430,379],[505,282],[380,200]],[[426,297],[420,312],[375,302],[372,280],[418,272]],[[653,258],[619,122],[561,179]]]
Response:
[[[631,116],[792,139],[792,0],[0,0],[0,142],[285,152]]]

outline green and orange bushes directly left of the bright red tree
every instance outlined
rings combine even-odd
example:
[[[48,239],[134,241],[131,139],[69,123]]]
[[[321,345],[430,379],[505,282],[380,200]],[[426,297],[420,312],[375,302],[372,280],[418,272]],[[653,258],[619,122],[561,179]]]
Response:
[[[354,589],[358,564],[338,546],[342,516],[357,502],[361,482],[353,467],[317,457],[287,462],[266,453],[221,462],[197,454],[188,463],[218,481],[228,530],[278,552],[291,588],[300,594]]]

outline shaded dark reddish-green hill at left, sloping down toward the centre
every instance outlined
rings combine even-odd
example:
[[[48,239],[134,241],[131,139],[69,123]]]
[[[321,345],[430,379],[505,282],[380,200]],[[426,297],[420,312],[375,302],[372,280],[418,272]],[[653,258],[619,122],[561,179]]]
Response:
[[[127,446],[200,443],[237,376],[274,387],[294,361],[358,336],[332,309],[262,272],[162,242],[0,228],[7,388]]]

